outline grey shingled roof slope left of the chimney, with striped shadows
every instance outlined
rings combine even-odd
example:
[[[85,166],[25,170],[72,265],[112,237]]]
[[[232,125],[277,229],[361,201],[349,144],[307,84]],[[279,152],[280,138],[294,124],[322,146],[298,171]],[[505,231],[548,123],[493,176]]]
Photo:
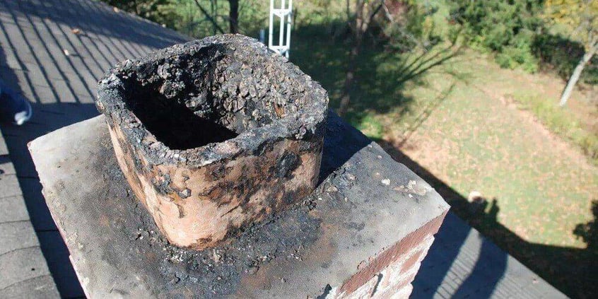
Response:
[[[95,86],[117,61],[185,40],[99,1],[0,0],[0,80],[33,106],[30,122],[1,127],[0,297],[55,298],[57,289],[61,297],[83,295],[42,197],[28,141],[98,115]],[[25,293],[32,290],[38,291]]]

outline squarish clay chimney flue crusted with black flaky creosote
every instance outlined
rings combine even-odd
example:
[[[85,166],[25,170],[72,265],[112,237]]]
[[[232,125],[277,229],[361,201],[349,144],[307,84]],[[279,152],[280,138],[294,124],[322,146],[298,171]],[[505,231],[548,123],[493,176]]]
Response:
[[[123,61],[96,105],[158,228],[201,250],[312,192],[327,103],[286,58],[218,35]]]

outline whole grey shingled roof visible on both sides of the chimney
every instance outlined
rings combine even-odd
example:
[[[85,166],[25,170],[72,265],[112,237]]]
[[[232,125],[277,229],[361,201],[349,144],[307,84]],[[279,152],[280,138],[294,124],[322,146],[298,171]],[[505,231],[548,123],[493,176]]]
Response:
[[[0,127],[0,297],[83,296],[27,143],[98,115],[95,86],[117,61],[185,40],[98,1],[0,0],[0,80],[33,106],[30,122]],[[563,297],[449,214],[422,263],[412,297],[453,295]]]

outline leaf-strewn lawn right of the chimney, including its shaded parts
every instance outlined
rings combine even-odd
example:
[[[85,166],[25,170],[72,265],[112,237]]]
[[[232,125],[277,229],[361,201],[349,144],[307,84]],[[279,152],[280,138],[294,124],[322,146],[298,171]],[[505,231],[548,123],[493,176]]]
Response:
[[[295,30],[291,60],[336,107],[348,47],[322,31]],[[487,54],[450,45],[425,53],[370,47],[358,65],[349,122],[454,189],[445,198],[453,211],[544,279],[573,297],[596,291],[597,274],[580,279],[575,271],[584,270],[572,267],[597,259],[573,232],[593,220],[598,168],[551,131],[575,144],[597,135],[556,106],[560,78],[500,69]],[[496,199],[498,213],[470,213],[472,191]]]

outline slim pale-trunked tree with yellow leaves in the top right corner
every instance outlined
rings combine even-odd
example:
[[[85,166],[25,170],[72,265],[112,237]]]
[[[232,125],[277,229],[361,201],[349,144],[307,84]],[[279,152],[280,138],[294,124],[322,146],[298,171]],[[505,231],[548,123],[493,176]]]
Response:
[[[583,69],[592,60],[594,54],[598,52],[598,1],[549,0],[546,6],[554,23],[571,25],[575,28],[573,35],[582,42],[585,48],[585,53],[578,65],[575,66],[575,70],[573,70],[573,74],[571,74],[561,95],[559,105],[563,107],[567,104],[567,100],[569,100],[575,84],[578,83]]]

